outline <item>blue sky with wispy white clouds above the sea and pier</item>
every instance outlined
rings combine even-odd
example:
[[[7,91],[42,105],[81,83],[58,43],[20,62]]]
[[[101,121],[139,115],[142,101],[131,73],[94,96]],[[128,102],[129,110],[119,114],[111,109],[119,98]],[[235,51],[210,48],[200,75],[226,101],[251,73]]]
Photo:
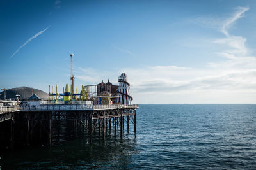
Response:
[[[127,73],[134,103],[255,103],[256,1],[1,1],[0,87]]]

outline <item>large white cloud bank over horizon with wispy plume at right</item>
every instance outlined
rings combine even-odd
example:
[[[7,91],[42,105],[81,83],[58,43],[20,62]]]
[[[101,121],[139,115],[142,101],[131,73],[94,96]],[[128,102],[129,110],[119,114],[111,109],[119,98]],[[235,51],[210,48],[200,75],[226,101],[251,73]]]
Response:
[[[137,69],[113,69],[99,72],[86,69],[77,78],[99,83],[100,78],[116,80],[123,71],[131,83],[135,103],[255,103],[256,57],[248,55],[246,38],[228,32],[249,8],[239,7],[225,22],[225,38],[213,43],[225,50],[216,53],[222,62],[207,63],[204,68],[178,66],[143,66]]]

